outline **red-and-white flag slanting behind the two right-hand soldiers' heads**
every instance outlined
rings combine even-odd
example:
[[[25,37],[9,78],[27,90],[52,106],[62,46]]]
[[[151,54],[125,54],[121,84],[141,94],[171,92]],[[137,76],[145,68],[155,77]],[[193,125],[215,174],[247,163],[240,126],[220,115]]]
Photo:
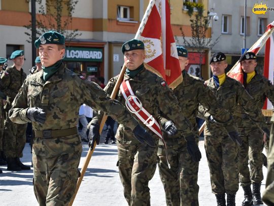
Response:
[[[274,31],[273,25],[274,21],[267,26],[266,32],[257,40],[257,42],[248,50],[248,52],[253,52],[256,55],[259,53],[269,36],[271,36],[272,32]],[[244,84],[244,74],[239,61],[237,61],[236,64],[227,72],[227,75]]]

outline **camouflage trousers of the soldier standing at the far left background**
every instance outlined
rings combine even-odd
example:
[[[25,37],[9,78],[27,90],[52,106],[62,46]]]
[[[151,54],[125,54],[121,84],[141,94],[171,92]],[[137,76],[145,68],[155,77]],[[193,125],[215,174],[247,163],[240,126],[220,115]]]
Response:
[[[4,125],[4,151],[7,157],[22,157],[26,143],[26,124],[13,123],[8,117]]]

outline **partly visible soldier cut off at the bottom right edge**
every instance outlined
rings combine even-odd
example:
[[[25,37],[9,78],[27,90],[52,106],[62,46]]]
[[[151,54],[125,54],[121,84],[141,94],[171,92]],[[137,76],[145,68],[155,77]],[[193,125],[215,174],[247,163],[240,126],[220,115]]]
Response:
[[[271,117],[271,133],[267,153],[267,176],[262,200],[269,206],[274,205],[274,114]]]

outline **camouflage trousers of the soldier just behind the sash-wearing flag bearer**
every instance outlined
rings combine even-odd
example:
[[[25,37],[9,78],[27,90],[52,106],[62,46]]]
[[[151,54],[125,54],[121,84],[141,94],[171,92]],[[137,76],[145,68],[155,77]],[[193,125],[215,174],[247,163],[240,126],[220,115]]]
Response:
[[[168,145],[167,142],[166,144]],[[197,184],[199,163],[192,160],[186,144],[179,151],[178,148],[174,148],[175,145],[167,147],[170,169],[167,166],[166,154],[162,145],[159,145],[157,153],[159,174],[164,186],[166,205],[199,205],[199,186]]]

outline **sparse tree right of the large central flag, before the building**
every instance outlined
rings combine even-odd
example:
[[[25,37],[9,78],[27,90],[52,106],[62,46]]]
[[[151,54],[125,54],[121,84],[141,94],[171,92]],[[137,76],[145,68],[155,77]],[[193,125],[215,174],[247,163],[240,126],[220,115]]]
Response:
[[[191,38],[187,40],[182,27],[180,30],[182,32],[184,45],[188,48],[195,49],[199,53],[199,69],[201,69],[205,50],[211,50],[218,43],[220,36],[214,42],[211,37],[207,38],[211,17],[208,15],[203,16],[204,8],[202,4],[185,2],[184,5],[188,9],[187,13],[190,17]]]

